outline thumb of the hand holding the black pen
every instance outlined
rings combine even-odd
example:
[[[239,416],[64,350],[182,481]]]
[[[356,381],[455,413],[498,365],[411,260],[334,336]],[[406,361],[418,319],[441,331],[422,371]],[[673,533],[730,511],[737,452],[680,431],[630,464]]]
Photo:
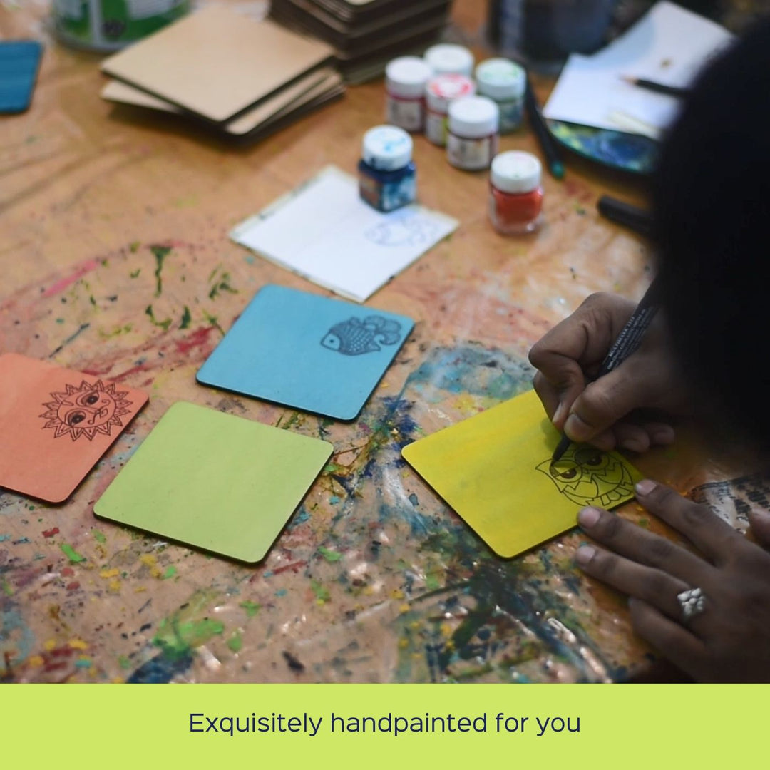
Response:
[[[573,441],[590,441],[648,400],[644,373],[632,359],[589,383],[572,404],[564,433]]]

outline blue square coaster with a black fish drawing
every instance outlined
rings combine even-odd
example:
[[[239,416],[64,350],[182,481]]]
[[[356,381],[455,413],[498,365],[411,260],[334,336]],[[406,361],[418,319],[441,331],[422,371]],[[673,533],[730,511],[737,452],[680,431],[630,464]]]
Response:
[[[406,316],[265,286],[200,368],[197,380],[353,420],[413,326]]]

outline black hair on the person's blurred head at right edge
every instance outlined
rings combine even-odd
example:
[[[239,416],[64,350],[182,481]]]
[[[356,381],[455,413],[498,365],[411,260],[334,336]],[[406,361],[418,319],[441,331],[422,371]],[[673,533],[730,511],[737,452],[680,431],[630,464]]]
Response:
[[[661,150],[653,209],[685,376],[770,448],[770,19],[698,78]]]

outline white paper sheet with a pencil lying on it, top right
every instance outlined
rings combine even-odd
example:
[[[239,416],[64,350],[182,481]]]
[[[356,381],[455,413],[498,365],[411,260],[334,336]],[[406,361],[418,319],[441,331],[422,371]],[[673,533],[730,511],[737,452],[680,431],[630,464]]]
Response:
[[[658,2],[607,48],[593,56],[571,55],[543,114],[658,138],[675,119],[680,100],[630,85],[622,76],[687,86],[732,40],[715,22]]]

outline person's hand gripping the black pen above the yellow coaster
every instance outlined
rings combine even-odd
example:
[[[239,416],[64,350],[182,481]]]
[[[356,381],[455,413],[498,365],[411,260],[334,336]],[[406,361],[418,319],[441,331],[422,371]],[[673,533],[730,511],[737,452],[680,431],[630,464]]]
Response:
[[[592,294],[530,351],[530,362],[539,370],[534,389],[554,426],[573,441],[604,450],[619,446],[644,452],[651,444],[674,440],[668,423],[629,418],[639,409],[685,412],[685,388],[669,353],[660,313],[636,353],[611,373],[586,384],[635,307],[614,294]]]

